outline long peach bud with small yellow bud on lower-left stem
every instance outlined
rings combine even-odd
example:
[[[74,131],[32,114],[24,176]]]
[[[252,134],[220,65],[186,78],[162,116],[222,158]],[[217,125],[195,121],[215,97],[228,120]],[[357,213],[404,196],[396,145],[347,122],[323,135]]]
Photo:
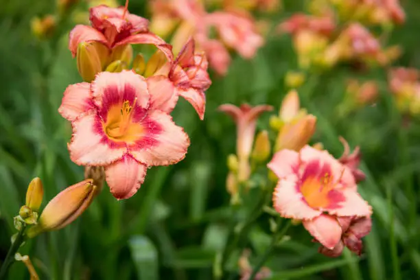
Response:
[[[95,192],[91,179],[67,187],[48,202],[38,217],[44,189],[40,178],[34,178],[27,188],[25,205],[14,218],[14,226],[18,231],[25,231],[25,236],[30,238],[45,231],[62,229],[91,205]]]

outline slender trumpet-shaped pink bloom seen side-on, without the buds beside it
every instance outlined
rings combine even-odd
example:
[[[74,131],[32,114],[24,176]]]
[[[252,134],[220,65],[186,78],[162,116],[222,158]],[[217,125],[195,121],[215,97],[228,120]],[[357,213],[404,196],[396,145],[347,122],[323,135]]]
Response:
[[[232,104],[224,104],[219,107],[219,110],[230,115],[236,123],[236,154],[239,160],[237,176],[240,182],[244,182],[250,176],[249,156],[253,148],[257,118],[261,113],[272,110],[272,106],[259,105],[252,107],[248,104],[242,104],[237,107]]]

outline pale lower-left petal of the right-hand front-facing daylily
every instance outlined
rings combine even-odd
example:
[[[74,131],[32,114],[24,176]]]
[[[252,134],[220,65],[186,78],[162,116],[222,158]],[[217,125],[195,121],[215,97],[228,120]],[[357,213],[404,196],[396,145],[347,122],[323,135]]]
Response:
[[[272,196],[272,202],[276,211],[284,218],[302,220],[318,217],[322,212],[307,205],[296,184],[296,176],[288,176],[283,180],[279,180]]]

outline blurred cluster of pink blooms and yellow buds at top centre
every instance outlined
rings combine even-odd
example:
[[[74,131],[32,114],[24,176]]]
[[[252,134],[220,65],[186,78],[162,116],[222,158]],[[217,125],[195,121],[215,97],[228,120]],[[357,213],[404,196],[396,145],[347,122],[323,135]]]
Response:
[[[150,29],[163,37],[173,33],[174,53],[192,37],[198,49],[207,54],[210,67],[219,75],[225,75],[231,63],[228,49],[234,49],[249,59],[264,43],[253,17],[244,12],[207,12],[205,5],[198,0],[155,0],[151,3],[151,10]],[[216,31],[215,34],[212,30]]]

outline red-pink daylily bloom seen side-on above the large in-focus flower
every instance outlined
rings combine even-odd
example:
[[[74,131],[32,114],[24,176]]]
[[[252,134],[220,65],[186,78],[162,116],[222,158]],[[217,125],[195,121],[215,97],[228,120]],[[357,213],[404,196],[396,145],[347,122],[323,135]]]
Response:
[[[92,26],[76,25],[69,34],[69,49],[73,57],[80,43],[98,42],[112,50],[128,44],[151,44],[173,60],[172,47],[156,34],[148,32],[148,20],[130,14],[125,8],[99,5],[91,8]]]

